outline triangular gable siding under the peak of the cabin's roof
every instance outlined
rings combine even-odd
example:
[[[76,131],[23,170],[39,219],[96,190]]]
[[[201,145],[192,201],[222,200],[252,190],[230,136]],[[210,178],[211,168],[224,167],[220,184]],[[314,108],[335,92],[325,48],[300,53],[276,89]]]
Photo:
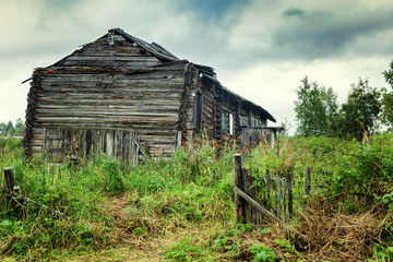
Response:
[[[122,36],[115,36],[114,45],[107,39],[93,41],[64,59],[62,66],[111,67],[135,69],[163,64],[141,47],[134,47]]]

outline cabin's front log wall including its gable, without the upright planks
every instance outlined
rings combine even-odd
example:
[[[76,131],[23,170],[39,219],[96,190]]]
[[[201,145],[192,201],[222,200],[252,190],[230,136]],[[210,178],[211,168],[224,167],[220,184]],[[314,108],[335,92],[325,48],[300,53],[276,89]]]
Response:
[[[27,154],[43,152],[44,129],[135,131],[151,156],[175,152],[177,131],[187,134],[192,122],[190,88],[196,73],[183,61],[163,63],[119,39],[90,44],[53,67],[35,70],[26,110]]]

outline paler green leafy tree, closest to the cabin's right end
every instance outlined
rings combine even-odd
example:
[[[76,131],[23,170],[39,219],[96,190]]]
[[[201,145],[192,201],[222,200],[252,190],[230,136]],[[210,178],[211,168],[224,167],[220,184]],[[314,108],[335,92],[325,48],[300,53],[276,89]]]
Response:
[[[306,76],[296,91],[296,132],[300,135],[331,135],[332,124],[337,115],[337,95],[332,87],[319,86]]]

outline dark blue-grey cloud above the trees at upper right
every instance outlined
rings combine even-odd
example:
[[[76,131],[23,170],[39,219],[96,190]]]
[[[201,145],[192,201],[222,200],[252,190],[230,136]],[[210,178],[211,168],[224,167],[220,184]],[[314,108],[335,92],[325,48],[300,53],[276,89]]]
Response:
[[[350,43],[357,37],[372,38],[379,32],[393,28],[392,9],[371,13],[348,12],[347,15],[323,11],[305,13],[291,9],[284,14],[286,23],[273,33],[273,48],[295,59],[340,56],[352,48]]]

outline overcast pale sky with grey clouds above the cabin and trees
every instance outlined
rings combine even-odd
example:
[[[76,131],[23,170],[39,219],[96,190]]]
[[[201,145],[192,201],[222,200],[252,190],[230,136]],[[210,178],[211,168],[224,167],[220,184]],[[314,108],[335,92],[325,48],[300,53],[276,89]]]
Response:
[[[24,119],[34,68],[120,27],[181,59],[295,127],[306,75],[344,102],[358,78],[388,86],[392,0],[0,0],[0,122]]]

